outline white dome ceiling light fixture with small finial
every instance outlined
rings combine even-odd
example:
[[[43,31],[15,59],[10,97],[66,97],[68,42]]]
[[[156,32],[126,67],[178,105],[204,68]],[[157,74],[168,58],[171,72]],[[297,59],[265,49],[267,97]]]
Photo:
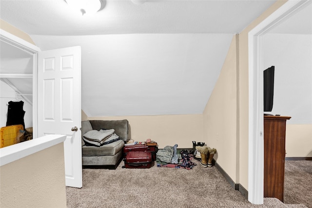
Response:
[[[66,3],[82,15],[92,15],[102,9],[102,0],[65,0]]]

